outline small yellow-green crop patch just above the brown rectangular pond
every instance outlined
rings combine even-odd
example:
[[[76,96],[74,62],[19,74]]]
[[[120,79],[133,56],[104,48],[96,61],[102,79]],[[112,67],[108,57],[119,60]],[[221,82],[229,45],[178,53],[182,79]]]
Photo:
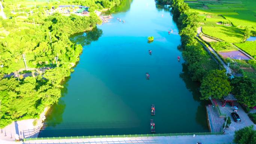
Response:
[[[226,52],[231,50],[237,50],[231,43],[228,42],[210,42],[211,47],[217,52]]]

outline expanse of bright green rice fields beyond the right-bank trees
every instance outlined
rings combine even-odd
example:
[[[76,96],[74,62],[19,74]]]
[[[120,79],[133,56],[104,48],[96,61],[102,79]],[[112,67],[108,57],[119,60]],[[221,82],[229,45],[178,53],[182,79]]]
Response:
[[[256,36],[255,0],[185,0],[185,2],[204,19],[202,22],[204,34],[234,43],[256,58],[256,41],[243,43],[245,27],[250,28],[252,36]],[[217,49],[217,51],[221,50]],[[255,68],[256,62],[253,63],[251,65]]]

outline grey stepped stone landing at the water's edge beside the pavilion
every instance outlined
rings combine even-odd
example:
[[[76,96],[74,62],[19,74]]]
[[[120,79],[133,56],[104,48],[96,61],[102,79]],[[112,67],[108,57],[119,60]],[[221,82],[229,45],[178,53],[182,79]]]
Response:
[[[206,110],[210,132],[220,132],[224,123],[224,117],[220,117],[218,111],[213,107],[213,105],[207,105]]]

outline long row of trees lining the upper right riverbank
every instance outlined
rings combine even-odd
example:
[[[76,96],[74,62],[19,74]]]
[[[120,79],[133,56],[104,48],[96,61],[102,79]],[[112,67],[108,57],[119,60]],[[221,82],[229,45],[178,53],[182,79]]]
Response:
[[[179,23],[179,34],[184,47],[183,58],[186,60],[192,80],[201,81],[209,70],[217,68],[217,64],[195,39],[201,18],[197,13],[191,12],[183,0],[173,0],[172,7],[174,19]]]

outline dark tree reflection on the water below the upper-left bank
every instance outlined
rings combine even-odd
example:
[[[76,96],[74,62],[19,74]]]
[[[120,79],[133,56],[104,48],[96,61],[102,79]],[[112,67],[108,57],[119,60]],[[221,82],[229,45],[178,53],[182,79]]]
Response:
[[[95,27],[91,31],[87,31],[83,34],[77,33],[70,37],[71,42],[80,44],[82,46],[90,45],[92,41],[97,41],[102,35],[102,30]]]

